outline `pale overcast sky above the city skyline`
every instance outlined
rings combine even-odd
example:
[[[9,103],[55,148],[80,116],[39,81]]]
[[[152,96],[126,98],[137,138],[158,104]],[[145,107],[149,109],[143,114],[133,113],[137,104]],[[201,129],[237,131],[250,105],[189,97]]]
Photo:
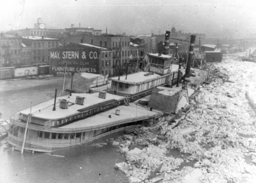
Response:
[[[206,36],[256,32],[255,0],[1,0],[1,31],[33,28],[92,27],[127,35],[176,30]]]

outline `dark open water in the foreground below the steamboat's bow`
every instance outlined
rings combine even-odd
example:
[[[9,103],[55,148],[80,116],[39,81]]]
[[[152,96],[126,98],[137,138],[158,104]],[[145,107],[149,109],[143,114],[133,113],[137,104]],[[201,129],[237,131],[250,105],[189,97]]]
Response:
[[[47,153],[12,150],[6,139],[0,142],[0,182],[128,182],[124,174],[114,169],[125,156],[112,145],[79,147]]]

